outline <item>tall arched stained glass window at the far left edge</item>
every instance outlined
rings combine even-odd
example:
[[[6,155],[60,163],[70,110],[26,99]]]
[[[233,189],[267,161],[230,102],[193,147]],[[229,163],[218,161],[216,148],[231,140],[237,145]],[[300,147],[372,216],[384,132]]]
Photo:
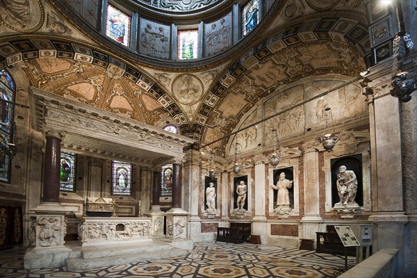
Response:
[[[7,70],[0,71],[0,182],[10,183],[11,159],[15,152],[14,102],[15,102],[15,81]]]

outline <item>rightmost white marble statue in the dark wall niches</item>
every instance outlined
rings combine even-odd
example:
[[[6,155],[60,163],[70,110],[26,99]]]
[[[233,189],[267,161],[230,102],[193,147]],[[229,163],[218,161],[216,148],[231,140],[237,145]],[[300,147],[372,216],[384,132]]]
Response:
[[[346,166],[339,167],[336,180],[339,202],[337,204],[354,204],[358,181],[356,174],[352,170],[346,170]]]

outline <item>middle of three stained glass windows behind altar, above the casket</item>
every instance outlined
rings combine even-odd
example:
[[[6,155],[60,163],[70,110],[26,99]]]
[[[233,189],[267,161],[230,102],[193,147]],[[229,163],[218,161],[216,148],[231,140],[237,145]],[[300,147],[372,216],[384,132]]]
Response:
[[[132,195],[132,165],[122,161],[111,163],[111,195]]]

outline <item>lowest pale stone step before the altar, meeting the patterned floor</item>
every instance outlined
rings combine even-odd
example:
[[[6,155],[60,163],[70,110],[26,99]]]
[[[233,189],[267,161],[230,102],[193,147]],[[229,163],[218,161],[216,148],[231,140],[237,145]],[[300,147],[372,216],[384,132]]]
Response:
[[[126,263],[139,263],[153,259],[166,259],[170,257],[185,256],[187,250],[172,248],[167,250],[145,251],[131,254],[113,254],[113,256],[99,256],[90,258],[72,258],[65,260],[65,267],[70,271],[88,270],[111,265],[124,265]]]

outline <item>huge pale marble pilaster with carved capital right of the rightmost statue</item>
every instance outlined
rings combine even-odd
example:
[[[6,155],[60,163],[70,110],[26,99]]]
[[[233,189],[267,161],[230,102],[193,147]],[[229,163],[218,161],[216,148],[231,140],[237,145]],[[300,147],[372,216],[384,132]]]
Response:
[[[373,221],[373,252],[384,248],[398,249],[398,277],[406,277],[404,225],[409,219],[404,213],[402,104],[389,94],[391,62],[379,63],[368,75],[373,80],[374,92],[368,99],[373,167],[369,220]]]

